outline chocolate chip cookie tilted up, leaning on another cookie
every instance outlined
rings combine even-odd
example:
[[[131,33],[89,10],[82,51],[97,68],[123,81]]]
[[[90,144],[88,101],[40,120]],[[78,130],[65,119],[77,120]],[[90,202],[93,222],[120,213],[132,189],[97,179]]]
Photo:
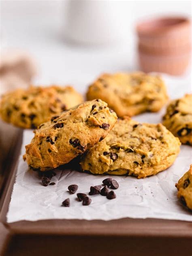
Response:
[[[56,168],[103,140],[116,121],[117,115],[107,103],[87,101],[40,125],[23,159],[34,170]]]

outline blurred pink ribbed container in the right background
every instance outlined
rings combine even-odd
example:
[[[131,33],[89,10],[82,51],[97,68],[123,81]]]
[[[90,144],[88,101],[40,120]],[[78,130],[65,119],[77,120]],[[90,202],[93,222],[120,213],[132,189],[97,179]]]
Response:
[[[162,17],[137,25],[141,69],[171,75],[185,72],[191,53],[191,22],[185,17]]]

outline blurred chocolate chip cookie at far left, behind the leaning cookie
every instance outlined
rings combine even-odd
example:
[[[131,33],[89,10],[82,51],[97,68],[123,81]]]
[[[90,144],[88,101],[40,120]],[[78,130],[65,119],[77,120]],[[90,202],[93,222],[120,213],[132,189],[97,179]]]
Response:
[[[30,86],[3,95],[0,116],[15,126],[35,129],[51,116],[82,102],[82,96],[71,86]]]

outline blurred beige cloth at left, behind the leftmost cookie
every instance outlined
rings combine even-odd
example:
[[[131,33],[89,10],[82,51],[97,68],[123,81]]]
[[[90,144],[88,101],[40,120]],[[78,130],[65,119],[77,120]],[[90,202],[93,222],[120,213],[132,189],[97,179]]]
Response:
[[[37,74],[34,59],[26,52],[10,50],[0,54],[0,95],[26,88]]]

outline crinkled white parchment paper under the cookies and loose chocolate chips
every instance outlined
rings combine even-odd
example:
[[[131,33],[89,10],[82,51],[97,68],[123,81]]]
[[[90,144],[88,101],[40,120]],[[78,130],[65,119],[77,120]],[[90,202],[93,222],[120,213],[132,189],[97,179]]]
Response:
[[[177,98],[190,92],[186,80],[165,76],[170,97]],[[190,82],[188,80],[188,82]],[[135,120],[159,123],[165,109],[159,113],[147,113],[134,117]],[[167,170],[145,179],[130,176],[113,176],[119,183],[115,190],[117,198],[108,200],[105,196],[91,196],[92,203],[83,206],[76,195],[68,193],[68,185],[77,184],[78,192],[88,193],[90,186],[102,184],[107,176],[94,176],[72,170],[57,170],[51,179],[56,185],[43,187],[36,172],[28,170],[22,155],[25,145],[33,137],[32,131],[24,131],[23,145],[19,157],[16,183],[7,214],[7,222],[40,219],[102,219],[111,220],[124,217],[161,218],[192,221],[192,214],[184,209],[177,199],[175,183],[189,169],[192,163],[192,147],[181,146],[175,163]],[[70,207],[61,203],[70,198]]]

